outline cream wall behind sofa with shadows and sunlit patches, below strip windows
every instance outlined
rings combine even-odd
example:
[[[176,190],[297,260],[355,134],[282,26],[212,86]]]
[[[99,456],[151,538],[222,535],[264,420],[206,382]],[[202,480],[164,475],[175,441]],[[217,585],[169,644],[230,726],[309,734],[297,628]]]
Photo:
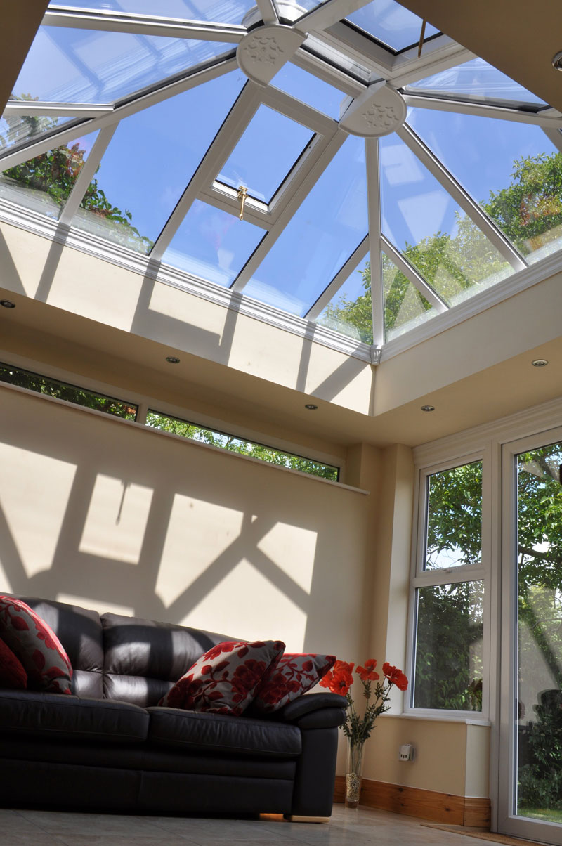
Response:
[[[366,497],[0,391],[5,590],[294,651],[355,649]]]

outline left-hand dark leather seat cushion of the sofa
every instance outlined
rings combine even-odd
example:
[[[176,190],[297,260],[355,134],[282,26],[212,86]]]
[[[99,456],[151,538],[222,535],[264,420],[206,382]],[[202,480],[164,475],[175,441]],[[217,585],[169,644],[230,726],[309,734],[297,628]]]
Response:
[[[0,690],[0,731],[102,743],[141,743],[148,714],[128,702]]]

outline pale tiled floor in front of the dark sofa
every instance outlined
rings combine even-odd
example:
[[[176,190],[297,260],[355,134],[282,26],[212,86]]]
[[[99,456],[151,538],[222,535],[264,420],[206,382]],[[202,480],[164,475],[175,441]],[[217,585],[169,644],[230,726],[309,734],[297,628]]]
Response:
[[[0,810],[6,846],[478,846],[480,838],[422,827],[386,811],[334,805],[326,825],[282,819],[207,820]],[[489,843],[488,843],[489,846]]]

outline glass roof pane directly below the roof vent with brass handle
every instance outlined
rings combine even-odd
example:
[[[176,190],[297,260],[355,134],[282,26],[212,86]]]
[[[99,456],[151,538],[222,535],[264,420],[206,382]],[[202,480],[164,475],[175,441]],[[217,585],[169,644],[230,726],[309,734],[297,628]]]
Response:
[[[226,288],[264,235],[265,231],[252,223],[196,200],[163,261]]]

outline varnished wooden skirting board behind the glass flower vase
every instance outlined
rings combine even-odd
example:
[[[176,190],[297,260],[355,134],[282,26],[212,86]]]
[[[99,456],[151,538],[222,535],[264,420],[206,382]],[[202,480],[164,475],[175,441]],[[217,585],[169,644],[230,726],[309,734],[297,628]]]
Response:
[[[336,776],[334,802],[345,798],[345,777]],[[418,816],[422,820],[449,823],[450,826],[490,827],[490,800],[469,796],[441,794],[435,790],[406,788],[400,784],[375,782],[364,778],[361,784],[361,805],[396,814]]]

